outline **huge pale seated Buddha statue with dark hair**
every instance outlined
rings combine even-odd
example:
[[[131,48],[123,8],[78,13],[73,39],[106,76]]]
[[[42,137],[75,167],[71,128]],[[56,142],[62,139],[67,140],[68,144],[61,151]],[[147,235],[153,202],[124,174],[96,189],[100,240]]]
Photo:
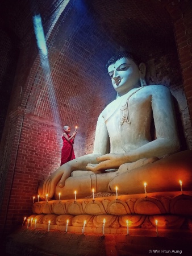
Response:
[[[180,152],[172,94],[162,85],[146,85],[145,64],[120,52],[106,65],[114,101],[99,115],[94,150],[59,167],[39,194],[49,199],[85,197],[95,192],[143,193],[178,190],[182,180],[192,187],[191,151]],[[151,125],[155,131],[151,135]]]

